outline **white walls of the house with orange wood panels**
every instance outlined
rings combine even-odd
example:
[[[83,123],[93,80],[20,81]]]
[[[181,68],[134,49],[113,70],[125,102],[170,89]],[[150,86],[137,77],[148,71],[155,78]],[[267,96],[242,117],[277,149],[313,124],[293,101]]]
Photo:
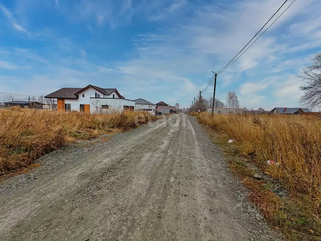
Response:
[[[95,98],[95,93],[100,94],[100,98]],[[82,94],[85,94],[85,97],[82,97]],[[115,98],[113,99],[113,94],[115,94]],[[99,101],[96,103],[96,101]],[[113,92],[110,95],[104,95],[99,91],[89,88],[84,92],[79,94],[78,99],[65,99],[65,104],[71,104],[72,111],[79,111],[80,104],[90,104],[90,112],[96,111],[96,104],[100,105],[110,105],[110,110],[124,110],[124,105],[127,106],[135,106],[134,101],[120,99],[119,96]]]

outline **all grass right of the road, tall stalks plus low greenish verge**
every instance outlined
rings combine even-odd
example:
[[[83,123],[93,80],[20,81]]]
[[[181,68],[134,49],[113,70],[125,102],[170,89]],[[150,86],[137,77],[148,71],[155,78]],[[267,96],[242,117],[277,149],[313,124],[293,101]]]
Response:
[[[265,219],[291,240],[321,240],[321,121],[309,116],[194,113],[215,133],[232,172]],[[218,140],[217,140],[218,139]],[[233,139],[232,144],[227,140]],[[235,154],[238,155],[235,155]],[[279,197],[253,178],[244,158],[282,183]],[[268,165],[267,160],[278,165]]]

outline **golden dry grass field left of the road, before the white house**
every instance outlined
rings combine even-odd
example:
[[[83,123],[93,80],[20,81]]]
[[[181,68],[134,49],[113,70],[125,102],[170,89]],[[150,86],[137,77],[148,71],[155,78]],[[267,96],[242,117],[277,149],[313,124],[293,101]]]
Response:
[[[125,131],[157,119],[146,112],[85,114],[0,109],[0,176],[21,171],[38,157],[74,140]]]

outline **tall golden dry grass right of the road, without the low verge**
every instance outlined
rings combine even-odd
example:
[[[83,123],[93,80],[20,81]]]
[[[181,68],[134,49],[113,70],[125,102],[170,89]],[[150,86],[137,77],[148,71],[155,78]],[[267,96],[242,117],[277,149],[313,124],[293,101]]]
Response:
[[[300,115],[212,116],[205,112],[195,115],[201,123],[219,131],[223,139],[225,136],[225,141],[227,137],[234,139],[232,145],[242,155],[253,157],[250,159],[264,172],[277,178],[288,188],[294,201],[290,201],[292,204],[287,201],[282,209],[277,210],[279,213],[275,214],[279,215],[278,219],[282,219],[281,216],[286,212],[292,215],[290,220],[286,215],[283,215],[284,220],[277,220],[282,222],[284,228],[296,225],[295,228],[298,229],[305,225],[304,231],[309,235],[315,235],[316,232],[321,235],[320,119]],[[268,165],[268,160],[279,165]],[[312,233],[313,230],[315,233]]]

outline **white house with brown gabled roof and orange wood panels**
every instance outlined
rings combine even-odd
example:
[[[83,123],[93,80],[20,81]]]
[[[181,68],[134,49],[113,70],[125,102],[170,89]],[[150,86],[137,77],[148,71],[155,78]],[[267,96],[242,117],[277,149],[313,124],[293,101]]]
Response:
[[[116,88],[88,85],[84,88],[61,88],[45,98],[57,99],[58,112],[85,113],[134,110],[135,101],[127,100]]]

